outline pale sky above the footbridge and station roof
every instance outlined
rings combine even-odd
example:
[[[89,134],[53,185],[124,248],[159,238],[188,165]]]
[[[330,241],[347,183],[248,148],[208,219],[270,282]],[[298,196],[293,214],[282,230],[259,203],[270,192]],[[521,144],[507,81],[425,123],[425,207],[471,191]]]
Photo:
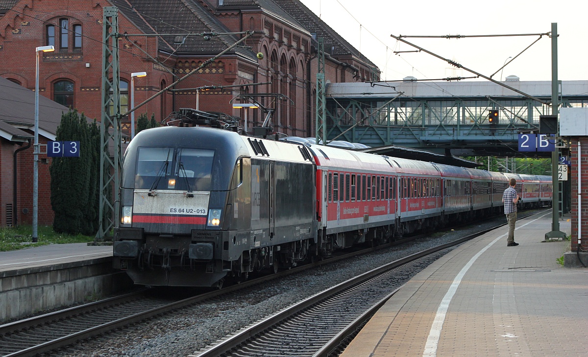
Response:
[[[416,49],[390,37],[391,34],[539,34],[551,32],[552,22],[556,22],[558,79],[588,80],[588,2],[585,0],[300,1],[375,63],[382,71],[382,79],[475,76],[426,52],[395,54],[395,51]],[[547,35],[540,39],[539,35],[404,39],[488,77],[507,60],[512,60],[509,57],[519,55],[492,77],[496,80],[509,75],[516,75],[520,80],[552,79],[552,39]]]

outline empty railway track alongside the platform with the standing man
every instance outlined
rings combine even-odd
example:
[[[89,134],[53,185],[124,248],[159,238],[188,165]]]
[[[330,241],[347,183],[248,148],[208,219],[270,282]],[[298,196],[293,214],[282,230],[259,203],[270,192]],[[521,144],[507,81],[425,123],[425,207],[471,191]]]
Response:
[[[349,279],[189,356],[338,355],[377,309],[414,275],[451,247],[497,227],[417,252]]]

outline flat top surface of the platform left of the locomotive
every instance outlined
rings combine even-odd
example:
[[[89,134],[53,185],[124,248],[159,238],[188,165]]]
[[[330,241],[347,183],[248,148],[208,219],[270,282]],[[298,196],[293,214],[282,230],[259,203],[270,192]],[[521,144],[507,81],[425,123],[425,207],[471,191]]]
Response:
[[[112,257],[112,245],[51,244],[0,252],[0,272]]]

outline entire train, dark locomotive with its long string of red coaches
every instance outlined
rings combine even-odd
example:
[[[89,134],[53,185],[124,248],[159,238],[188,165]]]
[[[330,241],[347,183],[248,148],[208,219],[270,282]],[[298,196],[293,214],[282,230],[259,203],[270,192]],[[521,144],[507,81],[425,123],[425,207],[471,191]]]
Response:
[[[114,266],[136,284],[220,287],[358,243],[525,207],[552,178],[503,174],[209,127],[143,130],[123,160]]]

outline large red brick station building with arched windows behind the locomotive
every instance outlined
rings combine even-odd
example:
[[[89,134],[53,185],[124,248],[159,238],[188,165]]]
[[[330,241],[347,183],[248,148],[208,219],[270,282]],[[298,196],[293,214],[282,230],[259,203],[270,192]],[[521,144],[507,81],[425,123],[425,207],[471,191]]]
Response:
[[[271,82],[201,91],[198,109],[247,117],[246,126],[251,128],[262,123],[266,113],[249,109],[246,116],[246,109],[232,108],[232,99],[240,93],[279,93],[288,100],[258,97],[266,107],[275,108],[273,129],[290,136],[314,136],[318,59],[313,38],[324,39],[326,83],[379,79],[380,72],[369,59],[298,0],[0,0],[0,77],[34,90],[35,48],[53,45],[54,52],[39,53],[39,95],[100,120],[102,19],[106,6],[119,9],[119,33],[143,35],[123,36],[118,42],[122,113],[130,109],[131,91],[135,104],[141,103],[242,37],[146,35],[255,31],[242,46],[142,106],[135,112],[135,120],[145,113],[166,122],[179,108],[196,109],[197,92],[192,88]],[[133,72],[147,75],[135,78],[131,88]],[[14,91],[9,85],[3,89]],[[32,120],[34,112],[23,115]],[[32,197],[32,183],[27,181],[32,177],[32,146],[19,151],[16,166],[12,160],[16,150],[26,147],[30,139],[30,123],[18,124],[18,120],[0,113],[0,226],[16,222],[18,212],[11,212],[16,207],[22,218],[18,223],[31,223],[31,214],[23,214],[22,208],[32,211],[32,204],[26,201]],[[240,125],[245,127],[243,119]],[[122,128],[124,133],[130,132],[128,118],[122,120]],[[16,129],[18,134],[8,134]],[[54,134],[41,135],[40,142]],[[48,168],[51,159],[40,157]],[[39,166],[40,183],[49,179],[45,166]],[[12,179],[8,179],[13,177],[15,167],[18,181],[23,183],[16,191]],[[39,224],[51,224],[50,202],[41,198],[49,197],[41,193],[44,189],[40,185]]]

